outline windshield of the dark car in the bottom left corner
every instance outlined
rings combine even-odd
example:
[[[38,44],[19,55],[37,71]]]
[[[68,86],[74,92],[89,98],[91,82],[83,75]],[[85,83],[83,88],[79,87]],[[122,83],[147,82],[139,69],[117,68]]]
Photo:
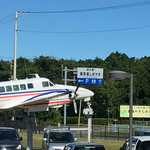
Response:
[[[19,137],[15,131],[0,131],[1,140],[18,140]]]

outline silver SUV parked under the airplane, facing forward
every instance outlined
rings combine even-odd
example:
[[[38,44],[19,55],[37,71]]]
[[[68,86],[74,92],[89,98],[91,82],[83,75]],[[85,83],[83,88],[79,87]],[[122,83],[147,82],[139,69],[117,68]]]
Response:
[[[42,142],[42,150],[63,150],[67,143],[76,139],[68,129],[45,129]]]

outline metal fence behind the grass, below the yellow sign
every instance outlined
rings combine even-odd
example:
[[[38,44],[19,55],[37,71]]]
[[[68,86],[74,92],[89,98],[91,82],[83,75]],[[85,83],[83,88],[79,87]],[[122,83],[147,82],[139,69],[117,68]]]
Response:
[[[135,129],[145,128],[148,129],[150,126],[133,126],[132,135],[135,135]],[[75,130],[72,131],[74,136],[77,138],[87,138],[87,130]],[[110,124],[109,126],[92,126],[91,137],[93,139],[114,139],[114,140],[125,140],[129,136],[129,125],[115,125]]]

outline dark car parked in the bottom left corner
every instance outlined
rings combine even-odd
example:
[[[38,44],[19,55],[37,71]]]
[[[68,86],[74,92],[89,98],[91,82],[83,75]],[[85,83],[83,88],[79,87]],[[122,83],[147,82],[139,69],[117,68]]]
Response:
[[[1,150],[23,150],[22,137],[14,128],[0,127],[0,149]]]

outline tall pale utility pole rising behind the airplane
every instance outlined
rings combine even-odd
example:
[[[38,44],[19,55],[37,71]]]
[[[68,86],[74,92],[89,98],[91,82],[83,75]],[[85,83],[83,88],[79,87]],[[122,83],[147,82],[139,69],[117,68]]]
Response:
[[[16,51],[17,51],[17,12],[15,12],[15,31],[14,31],[14,64],[13,64],[13,79],[16,80]]]

